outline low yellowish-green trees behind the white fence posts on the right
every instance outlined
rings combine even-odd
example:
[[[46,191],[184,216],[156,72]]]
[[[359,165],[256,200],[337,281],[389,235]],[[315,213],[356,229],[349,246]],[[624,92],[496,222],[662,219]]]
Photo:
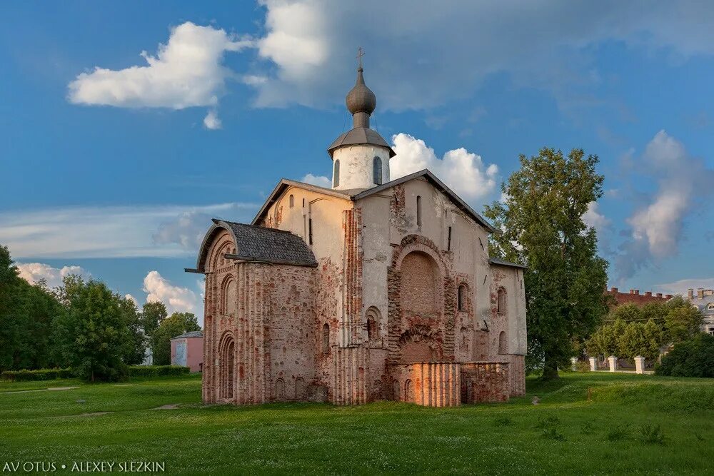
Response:
[[[655,360],[663,348],[700,333],[702,314],[680,296],[664,303],[620,305],[585,342],[589,355]]]

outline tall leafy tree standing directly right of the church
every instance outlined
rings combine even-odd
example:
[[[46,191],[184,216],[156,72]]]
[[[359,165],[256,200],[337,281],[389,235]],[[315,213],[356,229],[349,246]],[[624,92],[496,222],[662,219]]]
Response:
[[[603,176],[595,173],[597,156],[581,149],[563,156],[543,148],[520,160],[501,186],[506,202],[486,206],[485,214],[499,230],[491,253],[528,266],[528,360],[542,364],[547,380],[568,365],[572,341],[585,340],[607,311],[607,262],[597,255],[595,229],[583,221],[602,196]]]

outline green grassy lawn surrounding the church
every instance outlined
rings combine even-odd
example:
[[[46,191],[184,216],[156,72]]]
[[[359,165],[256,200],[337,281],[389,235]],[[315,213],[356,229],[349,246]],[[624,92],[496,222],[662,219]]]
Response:
[[[712,474],[714,381],[528,381],[501,405],[201,406],[196,376],[0,383],[6,462],[164,462],[171,474]],[[47,387],[72,390],[26,391]],[[22,393],[12,393],[22,392]],[[540,404],[533,405],[533,395]],[[153,410],[177,405],[171,410]],[[99,414],[101,412],[101,414]],[[656,430],[660,428],[660,432]]]

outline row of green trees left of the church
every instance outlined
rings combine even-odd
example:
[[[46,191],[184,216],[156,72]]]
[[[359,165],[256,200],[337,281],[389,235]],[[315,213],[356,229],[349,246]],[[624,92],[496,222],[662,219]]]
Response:
[[[116,380],[148,346],[154,364],[168,365],[171,338],[189,330],[200,330],[193,314],[167,316],[163,303],[139,310],[99,280],[31,285],[0,246],[0,370],[70,367],[87,380]]]

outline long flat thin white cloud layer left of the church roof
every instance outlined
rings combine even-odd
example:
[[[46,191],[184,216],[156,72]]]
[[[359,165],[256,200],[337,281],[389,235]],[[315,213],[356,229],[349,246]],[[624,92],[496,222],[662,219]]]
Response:
[[[0,213],[0,243],[18,258],[178,257],[196,253],[211,218],[246,221],[258,206],[107,206]]]

